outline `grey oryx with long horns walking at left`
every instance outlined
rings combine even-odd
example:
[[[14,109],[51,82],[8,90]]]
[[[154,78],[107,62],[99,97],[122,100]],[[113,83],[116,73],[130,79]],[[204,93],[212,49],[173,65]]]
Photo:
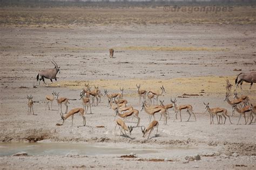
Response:
[[[37,74],[36,79],[37,79],[37,81],[39,80],[38,86],[40,85],[41,80],[43,80],[44,84],[46,84],[44,81],[44,78],[50,79],[51,83],[52,83],[52,79],[55,79],[55,81],[57,81],[56,75],[59,72],[60,67],[57,65],[57,63],[54,60],[52,60],[52,61],[50,60],[50,62],[55,66],[54,69],[47,69],[47,70],[39,71],[39,73]]]

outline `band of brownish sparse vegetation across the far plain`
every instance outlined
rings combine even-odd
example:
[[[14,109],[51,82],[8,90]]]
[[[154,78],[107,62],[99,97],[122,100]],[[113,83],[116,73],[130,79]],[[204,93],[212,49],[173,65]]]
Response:
[[[150,24],[255,24],[252,6],[233,6],[231,12],[165,12],[156,8],[23,8],[2,7],[0,25],[33,27],[72,27],[91,25],[150,25]]]

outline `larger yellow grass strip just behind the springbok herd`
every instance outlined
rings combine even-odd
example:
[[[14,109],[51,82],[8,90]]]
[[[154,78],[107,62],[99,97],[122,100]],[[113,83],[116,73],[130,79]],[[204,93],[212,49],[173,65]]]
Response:
[[[119,92],[120,87],[124,87],[125,96],[135,97],[137,96],[136,84],[141,85],[141,90],[159,90],[160,86],[164,86],[166,94],[165,96],[177,97],[186,94],[198,94],[199,96],[223,96],[225,98],[225,85],[228,79],[233,84],[232,91],[234,90],[235,76],[232,77],[189,77],[189,78],[173,78],[173,79],[125,79],[125,80],[90,80],[90,81],[58,81],[60,86],[68,87],[69,89],[79,90],[83,89],[85,83],[90,85],[99,85],[102,93],[104,89],[109,92]],[[57,83],[53,83],[52,86],[57,86]],[[248,92],[250,84],[244,83],[244,94]],[[93,89],[93,88],[92,88]],[[253,86],[252,91],[256,90],[256,86]],[[240,91],[240,89],[238,89]],[[256,99],[250,96],[250,99]]]

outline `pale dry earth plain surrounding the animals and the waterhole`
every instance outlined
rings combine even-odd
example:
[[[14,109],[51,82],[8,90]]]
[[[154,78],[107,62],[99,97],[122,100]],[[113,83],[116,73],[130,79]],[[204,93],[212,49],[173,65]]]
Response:
[[[120,158],[113,155],[63,156],[29,155],[0,157],[2,169],[255,169],[256,135],[255,123],[237,125],[239,114],[231,117],[233,124],[210,125],[210,115],[205,113],[203,102],[210,107],[231,106],[225,98],[225,79],[233,84],[240,72],[256,70],[255,25],[219,24],[120,24],[120,25],[71,25],[70,27],[45,28],[2,24],[0,27],[1,56],[1,120],[2,142],[79,142],[104,144],[110,148],[152,149],[155,152],[136,154],[137,158]],[[108,49],[115,50],[109,58]],[[39,70],[49,69],[55,60],[60,66],[58,83],[41,84],[37,88],[36,75]],[[241,69],[241,71],[234,71]],[[49,80],[46,79],[46,83]],[[57,114],[57,103],[53,110],[45,110],[45,95],[57,91],[71,100],[69,110],[82,107],[79,93],[85,83],[99,85],[102,93],[120,92],[124,87],[124,98],[128,105],[140,111],[136,84],[145,90],[160,90],[164,103],[177,99],[178,104],[191,104],[197,121],[187,113],[181,113],[183,121],[174,119],[170,110],[167,125],[159,121],[158,134],[154,130],[149,140],[142,137],[140,128],[125,137],[114,134],[114,111],[107,106],[107,98],[101,98],[93,114],[86,114],[86,126],[82,118],[67,119],[62,126]],[[250,97],[256,104],[256,85],[248,91],[244,83],[239,95]],[[185,94],[184,94],[185,93]],[[27,115],[26,95],[32,94],[36,101],[36,115]],[[186,94],[193,94],[192,96]],[[63,107],[65,108],[65,107]],[[139,112],[140,125],[149,124],[145,111]],[[156,118],[159,120],[160,115]],[[178,117],[179,118],[179,117]],[[127,120],[127,125],[136,123]],[[97,126],[104,126],[98,128]],[[117,130],[119,134],[119,130]],[[172,149],[172,148],[175,149]],[[190,149],[192,148],[192,149]],[[129,153],[127,153],[129,154]],[[199,154],[201,160],[188,161],[186,156]]]

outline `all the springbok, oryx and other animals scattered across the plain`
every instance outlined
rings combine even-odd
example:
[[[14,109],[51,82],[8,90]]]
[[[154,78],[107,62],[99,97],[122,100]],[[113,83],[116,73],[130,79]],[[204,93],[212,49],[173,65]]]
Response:
[[[110,50],[111,51],[111,50]],[[113,54],[113,51],[111,51],[111,55]],[[112,56],[111,56],[112,57]],[[52,62],[52,61],[51,61]],[[52,82],[52,79],[56,78],[56,74],[59,72],[59,66],[57,65],[56,62],[52,62],[53,65],[55,65],[54,69],[49,69],[49,70],[44,70],[38,73],[37,75],[37,80],[44,79],[50,79]],[[40,78],[39,78],[40,77]],[[256,72],[252,73],[241,73],[238,75],[237,79],[235,79],[235,90],[234,90],[234,96],[233,99],[230,100],[231,97],[231,89],[232,89],[232,84],[226,80],[226,96],[224,101],[227,101],[229,105],[232,106],[232,116],[234,114],[234,111],[237,111],[240,114],[238,123],[240,121],[241,116],[244,116],[245,119],[245,124],[247,124],[248,119],[250,118],[250,123],[253,122],[255,123],[255,115],[256,115],[256,106],[253,106],[249,102],[248,96],[238,96],[237,94],[237,87],[240,84],[240,87],[242,85],[242,82],[246,81],[247,83],[251,83],[251,86],[253,83],[256,82]],[[45,82],[44,82],[45,83]],[[39,86],[38,84],[38,86]],[[104,96],[108,100],[108,105],[114,112],[114,120],[116,122],[116,127],[119,126],[120,128],[120,135],[123,133],[124,135],[127,136],[126,131],[131,134],[133,128],[140,127],[143,133],[143,137],[146,136],[147,133],[149,133],[149,137],[151,132],[153,131],[154,128],[157,128],[158,131],[158,126],[159,123],[156,120],[155,114],[159,113],[160,114],[160,120],[162,117],[164,117],[164,125],[167,124],[167,119],[170,119],[169,115],[169,108],[172,108],[174,111],[174,117],[177,119],[177,113],[179,113],[180,121],[181,119],[181,111],[185,110],[189,117],[187,121],[190,120],[191,115],[193,114],[194,120],[197,121],[196,114],[193,112],[192,105],[187,104],[187,105],[178,105],[176,103],[176,99],[170,99],[171,103],[164,105],[164,101],[159,100],[160,104],[158,104],[158,98],[163,95],[163,93],[166,93],[164,86],[160,87],[159,91],[153,91],[153,90],[142,90],[140,89],[140,84],[136,84],[137,86],[137,93],[139,96],[139,105],[141,105],[141,109],[136,110],[134,109],[133,106],[127,106],[128,101],[124,99],[124,87],[120,87],[120,93],[109,93],[106,89],[104,89],[104,94],[101,93],[99,86],[94,85],[94,89],[92,90],[92,86],[89,85],[89,83],[85,83],[85,88],[82,89],[82,91],[79,94],[79,99],[82,101],[82,106],[83,108],[72,108],[68,112],[68,104],[69,100],[76,100],[76,99],[69,99],[66,97],[59,97],[59,93],[56,93],[55,91],[52,92],[51,95],[47,95],[45,97],[45,110],[46,107],[48,106],[48,110],[50,110],[49,103],[51,104],[51,110],[52,110],[52,102],[53,100],[57,101],[58,104],[58,111],[57,113],[60,113],[60,117],[64,121],[68,119],[69,117],[72,117],[72,126],[73,126],[73,115],[76,113],[79,113],[82,118],[83,118],[83,126],[86,125],[86,119],[85,119],[85,114],[87,113],[89,107],[90,107],[90,113],[92,113],[91,107],[92,106],[98,106],[99,103],[101,103],[101,97]],[[250,86],[250,90],[251,90]],[[29,111],[28,115],[33,112],[33,101],[32,101],[32,96],[27,96],[28,98],[28,106],[29,106]],[[96,99],[96,101],[95,101]],[[66,106],[65,113],[62,111],[62,104]],[[204,103],[205,105],[205,112],[210,113],[210,124],[213,124],[213,118],[216,115],[218,124],[220,124],[220,119],[221,119],[221,124],[223,124],[223,117],[224,117],[224,124],[226,122],[226,118],[229,119],[230,124],[232,124],[230,115],[228,115],[227,110],[225,108],[220,108],[220,107],[214,107],[210,108],[209,103]],[[60,112],[59,112],[60,108]],[[139,117],[139,112],[145,111],[145,113],[149,114],[149,122],[150,124],[145,128],[145,126],[140,126],[140,117]],[[33,112],[34,114],[34,112]],[[116,116],[118,115],[118,119],[116,119]],[[247,115],[247,120],[246,120],[246,115]],[[153,117],[153,121],[151,121],[151,118]],[[137,119],[137,125],[136,126],[126,126],[125,122],[127,118],[136,118]],[[114,130],[116,130],[116,127]],[[124,131],[124,132],[123,132]],[[149,137],[147,139],[149,139]]]

